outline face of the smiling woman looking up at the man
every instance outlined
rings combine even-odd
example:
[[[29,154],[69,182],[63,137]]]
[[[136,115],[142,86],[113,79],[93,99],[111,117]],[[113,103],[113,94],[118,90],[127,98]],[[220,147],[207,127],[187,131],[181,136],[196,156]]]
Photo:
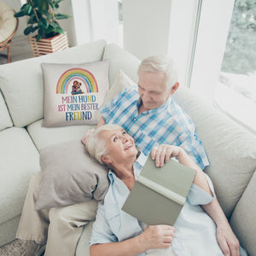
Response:
[[[108,151],[104,156],[111,160],[111,163],[136,159],[137,148],[134,140],[124,129],[102,131],[100,137],[105,141]]]

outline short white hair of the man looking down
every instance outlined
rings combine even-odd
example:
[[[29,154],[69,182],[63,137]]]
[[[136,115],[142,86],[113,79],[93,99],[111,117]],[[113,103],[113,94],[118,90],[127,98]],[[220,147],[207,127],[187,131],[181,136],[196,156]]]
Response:
[[[177,83],[177,68],[174,61],[167,55],[152,55],[144,59],[138,67],[137,73],[166,73],[166,88],[171,89]]]

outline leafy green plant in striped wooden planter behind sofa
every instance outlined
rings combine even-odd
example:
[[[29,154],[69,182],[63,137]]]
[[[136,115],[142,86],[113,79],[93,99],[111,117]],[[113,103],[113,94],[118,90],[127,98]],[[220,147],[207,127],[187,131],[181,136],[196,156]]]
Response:
[[[30,38],[35,56],[45,55],[60,49],[66,49],[67,33],[57,20],[67,19],[69,15],[57,13],[62,0],[27,0],[15,14],[15,17],[28,16],[25,35]]]

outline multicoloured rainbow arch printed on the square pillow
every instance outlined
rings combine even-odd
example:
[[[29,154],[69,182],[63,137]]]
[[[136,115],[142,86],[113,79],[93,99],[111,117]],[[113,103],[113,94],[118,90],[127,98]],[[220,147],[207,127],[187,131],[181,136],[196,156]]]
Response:
[[[94,75],[84,68],[75,67],[61,74],[56,86],[56,94],[67,94],[68,88],[73,86],[75,80],[84,84],[87,93],[99,92]]]

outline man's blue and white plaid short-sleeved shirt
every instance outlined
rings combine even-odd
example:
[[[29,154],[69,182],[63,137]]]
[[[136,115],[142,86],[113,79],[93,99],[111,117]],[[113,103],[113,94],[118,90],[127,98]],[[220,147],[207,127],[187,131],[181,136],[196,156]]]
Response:
[[[137,86],[128,87],[103,106],[102,116],[106,124],[122,126],[145,155],[154,146],[170,144],[182,147],[201,169],[209,164],[194,123],[172,96],[160,108],[138,114],[141,102]]]

